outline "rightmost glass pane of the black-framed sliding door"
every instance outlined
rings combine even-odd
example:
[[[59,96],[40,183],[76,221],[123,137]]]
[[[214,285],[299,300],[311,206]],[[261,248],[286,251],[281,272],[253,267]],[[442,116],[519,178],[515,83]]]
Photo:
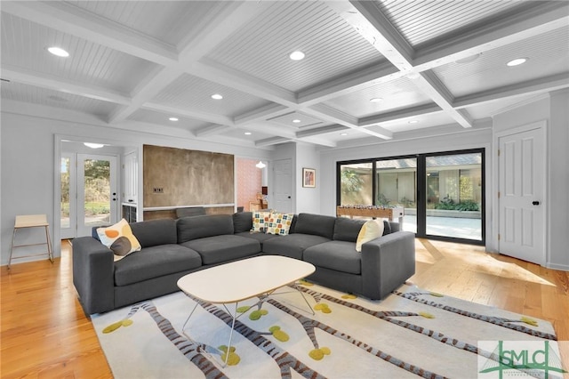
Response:
[[[482,240],[482,153],[426,157],[427,234]]]

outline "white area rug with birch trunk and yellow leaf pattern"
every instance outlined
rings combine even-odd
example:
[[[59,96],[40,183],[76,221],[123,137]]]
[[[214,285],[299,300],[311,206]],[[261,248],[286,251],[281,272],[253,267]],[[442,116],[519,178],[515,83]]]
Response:
[[[554,329],[541,319],[416,286],[381,302],[305,281],[294,287],[308,303],[290,287],[262,304],[240,302],[229,351],[236,307],[199,301],[182,331],[198,301],[181,292],[92,323],[119,379],[563,376]]]

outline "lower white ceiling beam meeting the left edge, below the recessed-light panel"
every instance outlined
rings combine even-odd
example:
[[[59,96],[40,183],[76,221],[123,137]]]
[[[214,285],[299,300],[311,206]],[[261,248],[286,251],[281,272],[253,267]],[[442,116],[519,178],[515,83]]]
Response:
[[[13,83],[22,85],[33,85],[35,87],[46,88],[62,93],[71,93],[89,99],[114,102],[116,104],[129,105],[132,99],[124,93],[98,87],[96,85],[84,85],[62,77],[55,77],[49,74],[38,74],[28,69],[2,65],[2,77],[9,79]]]

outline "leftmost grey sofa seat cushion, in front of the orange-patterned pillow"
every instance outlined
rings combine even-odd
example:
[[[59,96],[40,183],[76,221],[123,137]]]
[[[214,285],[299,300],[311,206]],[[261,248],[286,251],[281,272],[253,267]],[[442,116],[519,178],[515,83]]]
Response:
[[[197,269],[202,258],[196,251],[180,245],[145,247],[115,262],[115,285],[126,286],[185,270]]]

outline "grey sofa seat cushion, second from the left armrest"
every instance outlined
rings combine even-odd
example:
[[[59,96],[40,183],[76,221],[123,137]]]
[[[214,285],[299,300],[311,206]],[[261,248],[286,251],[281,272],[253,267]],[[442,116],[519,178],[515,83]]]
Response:
[[[181,246],[196,250],[204,264],[228,262],[260,253],[259,241],[235,235],[192,239]]]

